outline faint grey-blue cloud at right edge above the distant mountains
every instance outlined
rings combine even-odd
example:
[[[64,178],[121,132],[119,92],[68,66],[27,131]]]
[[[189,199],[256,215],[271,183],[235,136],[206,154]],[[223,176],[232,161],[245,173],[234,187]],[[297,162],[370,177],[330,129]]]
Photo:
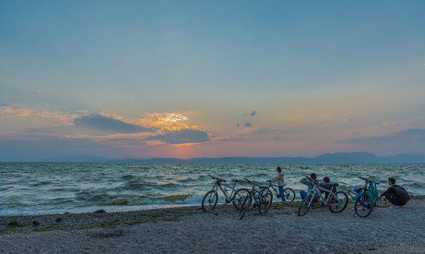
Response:
[[[411,143],[415,141],[425,142],[425,129],[408,129],[399,131],[393,135],[382,135],[369,138],[349,138],[344,141],[337,141],[337,143],[376,145],[384,143]]]

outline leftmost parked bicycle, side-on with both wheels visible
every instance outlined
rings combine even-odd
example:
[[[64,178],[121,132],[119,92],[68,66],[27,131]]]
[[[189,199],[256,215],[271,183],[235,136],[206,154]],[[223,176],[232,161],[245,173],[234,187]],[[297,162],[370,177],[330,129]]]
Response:
[[[220,179],[215,176],[211,176],[210,174],[208,174],[208,176],[214,179],[215,183],[214,183],[213,189],[211,191],[208,191],[203,197],[202,204],[201,204],[203,212],[210,212],[215,209],[215,206],[217,205],[217,201],[218,201],[217,189],[220,189],[223,195],[225,195],[225,205],[227,205],[229,202],[232,202],[233,206],[237,210],[240,210],[241,204],[242,202],[244,202],[246,194],[243,195],[244,189],[241,189],[241,190],[235,189],[236,183],[239,180],[232,180],[232,182],[234,183],[233,183],[233,186],[230,186],[228,184],[225,184],[226,182],[225,179]],[[232,193],[228,194],[226,187],[231,189]]]

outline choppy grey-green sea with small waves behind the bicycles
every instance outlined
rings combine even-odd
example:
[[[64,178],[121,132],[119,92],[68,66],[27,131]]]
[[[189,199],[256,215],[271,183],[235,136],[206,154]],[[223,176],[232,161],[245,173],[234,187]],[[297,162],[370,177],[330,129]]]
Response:
[[[346,191],[362,185],[363,176],[388,188],[388,177],[408,193],[425,195],[425,164],[314,164],[314,163],[0,163],[0,216],[147,210],[200,205],[213,188],[208,176],[266,184],[282,167],[287,187],[306,189],[301,179],[316,173],[329,176]],[[229,190],[230,191],[230,190]],[[219,193],[219,202],[224,202]]]

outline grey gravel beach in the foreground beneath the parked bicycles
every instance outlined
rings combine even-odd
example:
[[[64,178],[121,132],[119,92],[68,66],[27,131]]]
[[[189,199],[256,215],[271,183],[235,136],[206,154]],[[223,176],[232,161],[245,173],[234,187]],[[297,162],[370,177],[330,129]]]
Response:
[[[298,217],[298,205],[275,202],[242,220],[232,205],[0,217],[0,253],[424,253],[424,197],[367,218],[352,204]]]

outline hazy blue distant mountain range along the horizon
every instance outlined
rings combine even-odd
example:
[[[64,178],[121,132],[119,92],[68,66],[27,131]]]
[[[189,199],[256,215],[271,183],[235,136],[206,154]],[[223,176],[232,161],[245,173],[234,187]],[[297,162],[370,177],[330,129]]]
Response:
[[[425,163],[425,155],[393,155],[378,157],[369,152],[335,152],[316,157],[221,157],[221,158],[106,158],[70,156],[41,159],[37,162],[150,162],[150,163]]]

